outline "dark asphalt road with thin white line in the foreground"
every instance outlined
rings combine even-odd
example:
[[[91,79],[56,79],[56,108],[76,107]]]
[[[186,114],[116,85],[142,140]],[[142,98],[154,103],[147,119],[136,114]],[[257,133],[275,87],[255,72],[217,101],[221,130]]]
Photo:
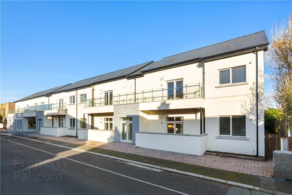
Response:
[[[229,187],[22,138],[0,138],[1,194],[227,194]]]

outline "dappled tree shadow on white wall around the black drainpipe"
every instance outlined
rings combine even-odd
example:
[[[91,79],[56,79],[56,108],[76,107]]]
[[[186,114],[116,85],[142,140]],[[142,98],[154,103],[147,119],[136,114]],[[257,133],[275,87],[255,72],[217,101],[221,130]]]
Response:
[[[264,110],[264,86],[263,86],[263,71],[258,73],[258,112]],[[241,102],[241,114],[252,119],[256,124],[256,82],[253,82],[249,88],[249,92],[245,96],[245,100]],[[259,125],[264,124],[264,114],[258,114]]]

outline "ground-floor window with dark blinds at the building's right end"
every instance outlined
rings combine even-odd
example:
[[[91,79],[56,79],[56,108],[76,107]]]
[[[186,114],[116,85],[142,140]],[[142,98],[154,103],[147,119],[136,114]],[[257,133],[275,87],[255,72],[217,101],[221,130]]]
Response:
[[[245,115],[219,117],[219,135],[246,136]]]

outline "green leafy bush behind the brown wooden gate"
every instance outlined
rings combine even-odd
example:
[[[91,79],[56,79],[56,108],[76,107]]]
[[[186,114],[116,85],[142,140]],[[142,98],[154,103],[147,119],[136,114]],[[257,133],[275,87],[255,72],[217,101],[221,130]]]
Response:
[[[283,112],[279,108],[268,108],[265,110],[265,129],[276,131],[275,120],[281,120]]]

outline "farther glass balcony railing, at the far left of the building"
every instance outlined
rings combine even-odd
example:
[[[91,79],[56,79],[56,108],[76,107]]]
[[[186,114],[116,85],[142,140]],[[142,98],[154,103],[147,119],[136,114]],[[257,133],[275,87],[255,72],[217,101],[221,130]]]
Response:
[[[18,108],[18,109],[10,109],[9,114],[23,113],[23,112],[36,112],[36,111],[44,111],[44,110],[65,110],[65,109],[66,109],[66,104],[56,103],[56,104],[29,106],[29,107]]]

